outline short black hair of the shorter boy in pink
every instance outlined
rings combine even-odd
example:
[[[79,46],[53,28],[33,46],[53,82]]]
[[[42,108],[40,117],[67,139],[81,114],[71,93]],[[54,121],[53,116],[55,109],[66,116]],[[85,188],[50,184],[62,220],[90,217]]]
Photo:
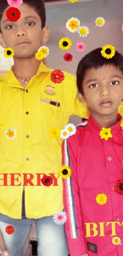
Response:
[[[86,54],[79,62],[77,67],[77,88],[78,91],[84,95],[83,92],[83,80],[85,72],[90,68],[100,68],[103,65],[114,65],[120,69],[123,74],[123,56],[115,50],[115,55],[106,59],[101,55],[102,48],[97,48]]]

